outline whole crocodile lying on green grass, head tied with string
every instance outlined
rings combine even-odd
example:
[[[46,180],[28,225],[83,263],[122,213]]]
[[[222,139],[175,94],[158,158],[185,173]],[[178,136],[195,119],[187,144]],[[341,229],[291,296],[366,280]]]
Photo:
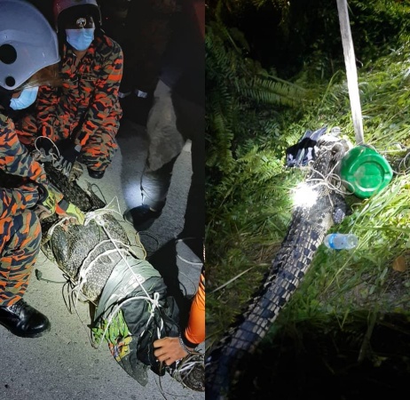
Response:
[[[318,140],[318,155],[305,180],[317,193],[316,203],[297,206],[292,214],[280,251],[264,284],[244,316],[206,358],[206,393],[209,400],[229,398],[248,356],[255,351],[272,322],[290,299],[311,265],[327,230],[340,223],[346,212],[344,198],[335,190],[334,173],[339,160],[351,148],[346,140],[324,135]],[[324,180],[325,179],[325,180]]]

